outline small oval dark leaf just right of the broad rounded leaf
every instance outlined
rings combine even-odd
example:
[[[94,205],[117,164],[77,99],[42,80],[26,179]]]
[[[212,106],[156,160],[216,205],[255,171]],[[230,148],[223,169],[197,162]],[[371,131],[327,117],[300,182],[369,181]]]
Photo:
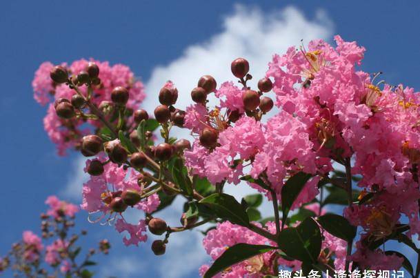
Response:
[[[348,220],[341,215],[326,214],[318,217],[318,222],[331,235],[352,241],[356,236],[357,228],[350,225]]]

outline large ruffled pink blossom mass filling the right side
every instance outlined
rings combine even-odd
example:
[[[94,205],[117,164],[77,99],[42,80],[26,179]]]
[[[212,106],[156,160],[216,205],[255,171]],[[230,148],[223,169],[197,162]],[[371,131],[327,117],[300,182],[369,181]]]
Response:
[[[198,135],[210,128],[218,139],[214,148],[205,148],[197,138],[192,150],[185,152],[186,165],[213,184],[239,183],[239,177],[249,172],[254,179],[266,179],[279,198],[288,177],[310,173],[314,177],[295,201],[297,207],[318,195],[317,183],[333,170],[334,161],[344,164],[351,158],[352,175],[363,177],[358,186],[381,194],[347,208],[350,223],[379,239],[377,235],[390,235],[405,216],[408,235],[419,235],[420,93],[402,85],[381,85],[379,75],[357,68],[365,48],[339,36],[334,39],[336,48],[315,40],[308,49],[293,46],[286,54],[274,55],[266,77],[273,81],[279,110],[265,123],[243,114],[245,89],[232,82],[216,90],[220,105],[213,110],[201,103],[188,107],[186,128]],[[237,121],[228,120],[233,110],[239,112]],[[341,247],[336,251],[343,257]],[[217,250],[210,252],[219,255]],[[387,259],[382,252],[364,254],[384,262],[394,258]],[[342,266],[342,261],[337,264]]]

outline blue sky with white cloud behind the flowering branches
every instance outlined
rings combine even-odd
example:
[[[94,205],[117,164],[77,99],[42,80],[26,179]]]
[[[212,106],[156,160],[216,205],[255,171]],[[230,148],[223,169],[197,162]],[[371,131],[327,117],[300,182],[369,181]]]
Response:
[[[30,83],[43,61],[59,63],[94,57],[126,63],[148,85],[146,107],[151,110],[157,88],[166,79],[179,83],[178,88],[188,88],[195,83],[196,75],[206,70],[216,77],[229,78],[228,61],[241,55],[249,56],[251,69],[262,75],[271,54],[282,52],[286,44],[299,44],[300,39],[308,41],[312,37],[331,40],[333,34],[340,34],[367,48],[363,70],[381,70],[390,83],[420,88],[419,1],[240,3],[2,2],[0,255],[21,237],[22,230],[39,229],[38,215],[45,210],[43,201],[48,195],[77,196],[66,195],[65,188],[71,189],[74,181],[81,179],[74,175],[79,155],[57,157],[43,131],[46,108],[38,106],[32,97]],[[294,8],[284,10],[290,5]],[[187,97],[180,95],[180,99],[182,104],[188,103],[188,93]],[[78,224],[90,231],[89,241],[109,237],[114,246],[114,255],[101,259],[108,268],[97,268],[97,272],[133,277],[134,271],[141,271],[142,275],[162,277],[164,272],[157,266],[168,273],[181,271],[174,269],[176,264],[170,261],[174,262],[177,253],[153,257],[150,243],[125,248],[112,228],[88,224],[83,212]],[[190,241],[179,239],[177,244],[197,245],[199,237],[195,235],[188,235]],[[178,277],[197,277],[196,269],[208,260],[202,251],[189,252],[197,252],[196,259],[191,258],[191,267],[185,266],[183,259],[178,267],[185,266],[186,272]],[[119,264],[115,263],[117,257]]]

